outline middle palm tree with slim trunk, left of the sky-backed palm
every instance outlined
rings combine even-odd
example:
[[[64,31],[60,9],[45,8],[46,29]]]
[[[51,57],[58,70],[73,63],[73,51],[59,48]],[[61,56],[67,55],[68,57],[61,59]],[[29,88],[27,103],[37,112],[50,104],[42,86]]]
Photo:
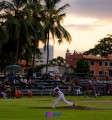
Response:
[[[29,0],[29,4],[26,9],[30,10],[32,15],[32,26],[35,30],[35,37],[32,37],[33,46],[33,65],[32,70],[34,72],[36,53],[41,54],[39,50],[39,41],[44,42],[44,29],[43,29],[43,6],[40,4],[40,0]]]

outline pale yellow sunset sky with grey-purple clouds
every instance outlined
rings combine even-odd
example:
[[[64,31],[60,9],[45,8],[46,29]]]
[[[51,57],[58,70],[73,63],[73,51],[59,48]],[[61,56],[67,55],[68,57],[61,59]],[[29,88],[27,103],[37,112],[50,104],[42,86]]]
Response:
[[[112,0],[62,0],[65,9],[63,26],[71,34],[72,42],[54,44],[54,57],[65,58],[67,48],[73,53],[93,48],[98,41],[112,34]],[[53,44],[53,43],[51,43]]]

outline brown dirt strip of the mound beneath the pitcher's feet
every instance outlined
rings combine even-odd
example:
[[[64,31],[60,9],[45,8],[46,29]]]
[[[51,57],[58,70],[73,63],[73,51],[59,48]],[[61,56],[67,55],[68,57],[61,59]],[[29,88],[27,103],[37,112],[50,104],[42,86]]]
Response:
[[[53,109],[52,107],[32,107],[32,109]],[[85,107],[85,106],[61,106],[56,107],[55,109],[66,109],[66,110],[112,110],[112,109],[103,109],[103,108],[91,108],[91,107]]]

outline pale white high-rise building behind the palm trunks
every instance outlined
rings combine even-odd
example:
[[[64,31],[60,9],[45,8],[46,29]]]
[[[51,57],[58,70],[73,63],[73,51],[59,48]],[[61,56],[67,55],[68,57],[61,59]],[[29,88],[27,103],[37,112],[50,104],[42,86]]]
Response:
[[[40,48],[41,56],[40,58],[35,59],[35,65],[42,65],[46,64],[47,62],[47,49]],[[49,60],[52,60],[54,58],[54,46],[49,45]]]

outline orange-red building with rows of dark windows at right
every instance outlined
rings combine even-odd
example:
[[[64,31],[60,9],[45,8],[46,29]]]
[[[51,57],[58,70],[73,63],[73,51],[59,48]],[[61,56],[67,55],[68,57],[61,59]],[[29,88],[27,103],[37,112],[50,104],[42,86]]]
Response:
[[[92,71],[96,79],[111,79],[112,80],[112,55],[108,56],[93,56],[93,55],[83,55],[74,51],[73,54],[66,51],[66,63],[69,67],[76,67],[77,60],[84,58],[87,59],[90,65],[90,70]]]

